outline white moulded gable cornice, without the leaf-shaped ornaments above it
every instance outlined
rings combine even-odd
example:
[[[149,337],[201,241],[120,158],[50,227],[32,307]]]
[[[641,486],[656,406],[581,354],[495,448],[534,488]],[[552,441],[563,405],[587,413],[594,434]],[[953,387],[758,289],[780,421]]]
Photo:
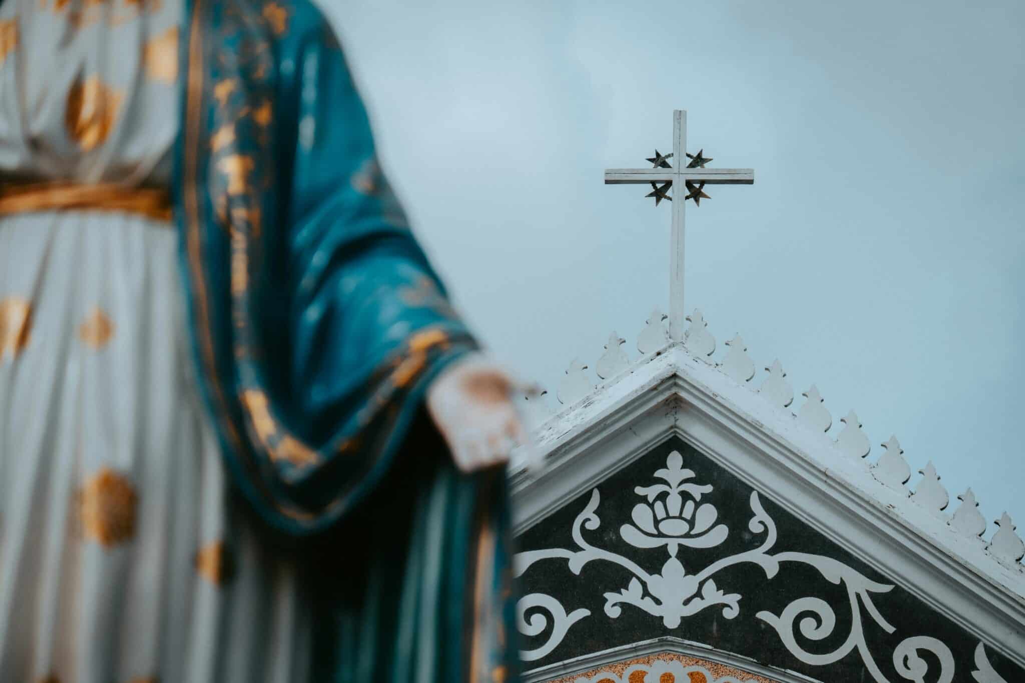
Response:
[[[556,416],[543,466],[510,474],[517,532],[680,436],[783,509],[1025,666],[1025,572],[883,486],[787,414],[681,345]],[[974,505],[974,503],[973,503]]]

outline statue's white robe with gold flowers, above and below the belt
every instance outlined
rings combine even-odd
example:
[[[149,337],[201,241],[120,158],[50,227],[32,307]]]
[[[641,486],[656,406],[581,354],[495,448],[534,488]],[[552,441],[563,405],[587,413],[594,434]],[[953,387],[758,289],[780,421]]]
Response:
[[[4,0],[0,179],[168,183],[182,13]],[[141,215],[0,216],[2,682],[304,679],[294,569],[228,505],[177,248]]]

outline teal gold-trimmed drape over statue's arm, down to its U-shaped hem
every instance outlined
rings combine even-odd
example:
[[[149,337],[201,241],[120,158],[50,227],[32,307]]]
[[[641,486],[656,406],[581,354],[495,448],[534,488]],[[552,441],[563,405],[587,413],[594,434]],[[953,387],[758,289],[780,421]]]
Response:
[[[195,0],[176,194],[203,388],[272,526],[321,531],[387,471],[425,386],[476,348],[305,2]]]

